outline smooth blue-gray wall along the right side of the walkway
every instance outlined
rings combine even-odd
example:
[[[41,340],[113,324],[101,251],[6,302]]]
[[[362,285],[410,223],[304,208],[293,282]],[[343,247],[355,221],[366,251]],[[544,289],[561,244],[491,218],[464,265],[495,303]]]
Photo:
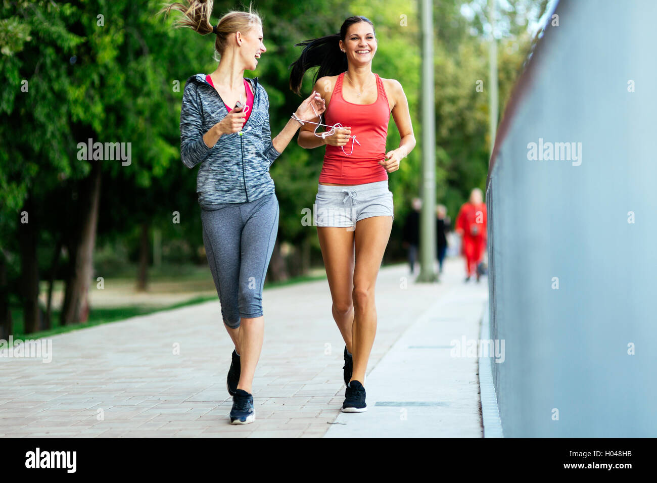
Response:
[[[657,2],[555,13],[505,112],[486,193],[503,430],[654,437]],[[581,143],[579,159],[528,159],[539,139]]]

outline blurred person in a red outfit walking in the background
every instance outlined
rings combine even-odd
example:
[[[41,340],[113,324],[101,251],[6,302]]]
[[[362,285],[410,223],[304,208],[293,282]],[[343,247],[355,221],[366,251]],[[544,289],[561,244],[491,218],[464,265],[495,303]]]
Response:
[[[474,273],[479,281],[477,265],[486,250],[486,203],[479,188],[470,193],[470,200],[461,206],[456,219],[456,232],[461,235],[461,253],[465,257],[466,279],[469,281]]]

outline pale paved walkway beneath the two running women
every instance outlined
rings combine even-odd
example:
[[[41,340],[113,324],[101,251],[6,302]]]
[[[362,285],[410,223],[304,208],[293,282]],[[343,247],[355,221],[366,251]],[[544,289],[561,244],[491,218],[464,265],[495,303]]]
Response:
[[[487,288],[462,274],[461,260],[439,284],[381,270],[367,413],[340,413],[344,343],[323,280],[263,294],[253,424],[228,424],[232,346],[207,302],[53,336],[50,363],[0,357],[0,436],[480,437],[477,359],[449,342],[478,338]]]

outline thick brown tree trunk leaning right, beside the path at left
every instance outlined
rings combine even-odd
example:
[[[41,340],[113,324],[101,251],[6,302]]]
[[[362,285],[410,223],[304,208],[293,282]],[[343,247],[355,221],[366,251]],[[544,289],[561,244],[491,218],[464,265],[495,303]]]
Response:
[[[82,198],[81,230],[72,247],[72,270],[66,279],[66,295],[62,306],[62,325],[86,322],[89,317],[89,285],[93,276],[93,248],[96,243],[98,209],[101,195],[101,165],[92,161]]]

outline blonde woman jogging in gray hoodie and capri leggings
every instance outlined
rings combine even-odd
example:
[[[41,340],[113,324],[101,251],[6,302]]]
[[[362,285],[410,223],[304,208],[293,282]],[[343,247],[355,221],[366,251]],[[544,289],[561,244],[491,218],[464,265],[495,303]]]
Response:
[[[187,79],[180,114],[181,158],[200,166],[196,192],[221,316],[235,350],[227,376],[232,424],[252,423],[252,383],[263,342],[262,288],[279,223],[279,203],[269,167],[300,124],[290,118],[271,139],[269,98],[255,70],[267,49],[258,14],[232,11],[210,23],[212,1],[171,3],[162,12],[183,13],[179,26],[211,34],[219,64],[211,74]],[[312,104],[312,106],[311,106]],[[318,94],[294,115],[311,120],[323,112]]]

